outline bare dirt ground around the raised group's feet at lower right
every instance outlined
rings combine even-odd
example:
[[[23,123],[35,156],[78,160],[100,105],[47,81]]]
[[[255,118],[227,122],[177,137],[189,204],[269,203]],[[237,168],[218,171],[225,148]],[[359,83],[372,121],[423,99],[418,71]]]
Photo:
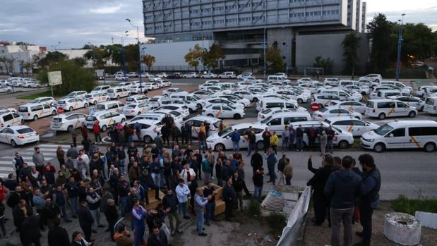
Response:
[[[393,212],[393,208],[390,202],[381,202],[378,209],[373,211],[373,234],[372,234],[372,245],[378,246],[394,246],[397,245],[385,238],[384,236],[384,216]],[[316,246],[316,245],[329,245],[330,244],[330,228],[328,227],[328,221],[325,221],[322,226],[313,226],[311,219],[313,218],[313,209],[310,207],[309,214],[305,221],[304,228],[304,242],[303,245]],[[355,231],[361,231],[361,226],[359,223],[352,225]],[[341,232],[342,233],[342,232]],[[343,234],[340,234],[342,238]],[[354,243],[359,242],[361,238],[354,235]],[[421,228],[421,245],[431,246],[436,245],[437,242],[437,230],[430,228]]]

